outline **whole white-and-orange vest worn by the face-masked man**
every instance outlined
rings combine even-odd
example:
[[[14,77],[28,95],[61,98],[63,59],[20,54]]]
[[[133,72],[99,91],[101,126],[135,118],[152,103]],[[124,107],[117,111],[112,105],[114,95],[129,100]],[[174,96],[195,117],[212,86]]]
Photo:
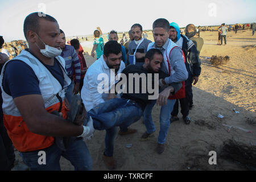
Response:
[[[71,84],[70,78],[67,76],[65,72],[65,61],[62,57],[57,56],[57,61],[60,63],[61,70],[64,75],[64,86],[61,86],[60,82],[56,80],[56,78],[48,71],[48,69],[33,55],[31,55],[28,51],[22,51],[20,55],[15,57],[15,60],[20,60],[26,63],[28,66],[32,68],[36,77],[39,80],[39,88],[44,100],[44,107],[51,113],[54,110],[59,111],[60,102],[64,102],[65,98],[65,90],[69,84]],[[11,61],[11,60],[10,60]],[[9,134],[10,139],[13,141],[14,147],[20,152],[34,151],[42,148],[47,148],[51,146],[54,142],[53,137],[47,137],[43,135],[38,135],[35,133],[31,133],[28,130],[26,122],[23,121],[22,116],[19,113],[18,108],[14,104],[13,97],[9,96],[3,90],[2,81],[3,75],[5,73],[6,65],[9,63],[5,63],[3,65],[2,73],[0,76],[0,86],[2,89],[2,98],[3,98],[3,121],[5,127],[7,129],[7,133]],[[56,96],[59,95],[61,100]],[[67,117],[67,107],[65,104],[62,104],[61,113],[63,113],[63,117]]]

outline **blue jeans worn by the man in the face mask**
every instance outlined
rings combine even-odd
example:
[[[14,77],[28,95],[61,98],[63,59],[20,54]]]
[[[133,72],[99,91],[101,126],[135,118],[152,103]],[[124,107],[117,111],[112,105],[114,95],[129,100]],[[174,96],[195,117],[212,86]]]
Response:
[[[39,151],[46,152],[46,164],[39,164],[38,160],[42,155]],[[60,171],[60,156],[69,160],[75,167],[75,170],[87,171],[92,169],[92,157],[82,139],[75,140],[68,147],[67,151],[61,151],[55,143],[48,148],[32,152],[20,152],[23,162],[27,164],[32,171]],[[41,161],[41,160],[39,160]]]

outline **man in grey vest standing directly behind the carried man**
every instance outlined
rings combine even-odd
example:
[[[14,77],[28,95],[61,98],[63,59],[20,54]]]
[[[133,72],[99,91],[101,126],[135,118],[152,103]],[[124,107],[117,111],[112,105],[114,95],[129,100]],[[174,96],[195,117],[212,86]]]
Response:
[[[134,40],[130,42],[128,48],[129,63],[142,65],[147,52],[147,46],[151,43],[151,40],[142,38],[142,26],[138,23],[131,26],[131,36],[133,36]]]

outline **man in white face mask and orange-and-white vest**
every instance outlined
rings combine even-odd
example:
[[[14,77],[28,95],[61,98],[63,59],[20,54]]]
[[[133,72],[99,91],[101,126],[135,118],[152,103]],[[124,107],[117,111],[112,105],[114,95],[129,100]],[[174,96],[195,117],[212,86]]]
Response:
[[[32,13],[24,20],[23,30],[29,49],[7,61],[0,76],[7,133],[31,170],[60,170],[60,156],[76,170],[90,170],[92,158],[82,139],[70,142],[67,150],[61,150],[55,140],[89,137],[94,131],[92,121],[80,126],[65,119],[65,88],[71,80],[59,56],[59,24],[52,16]],[[45,156],[43,164],[40,151]]]

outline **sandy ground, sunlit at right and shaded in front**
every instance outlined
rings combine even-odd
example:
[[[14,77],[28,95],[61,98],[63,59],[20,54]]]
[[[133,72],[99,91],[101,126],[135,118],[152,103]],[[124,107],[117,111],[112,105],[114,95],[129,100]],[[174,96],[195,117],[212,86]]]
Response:
[[[193,86],[195,107],[190,110],[192,122],[171,123],[163,154],[156,153],[159,133],[160,107],[155,106],[152,118],[156,126],[154,136],[146,141],[140,140],[146,131],[142,118],[131,125],[138,132],[119,136],[115,141],[114,158],[117,170],[244,170],[242,165],[221,157],[224,141],[234,139],[247,146],[256,146],[256,100],[255,100],[255,57],[256,36],[251,31],[228,32],[227,45],[217,46],[216,32],[201,32],[204,46],[201,51],[202,72],[199,82]],[[152,33],[149,39],[153,40]],[[90,40],[90,39],[89,39]],[[106,40],[106,39],[105,39]],[[119,39],[121,40],[121,39]],[[85,52],[92,50],[92,42],[83,42]],[[208,59],[212,55],[230,57],[227,64],[213,67]],[[86,63],[91,65],[96,59],[85,54]],[[236,109],[240,113],[234,113]],[[221,114],[224,118],[218,118]],[[178,117],[181,118],[179,113]],[[249,119],[254,124],[249,122]],[[236,126],[250,130],[248,133]],[[93,170],[108,170],[102,161],[105,131],[95,131],[94,137],[86,141],[93,158]],[[126,148],[127,144],[131,148]],[[217,164],[208,163],[209,151],[217,152]],[[18,154],[17,154],[18,156]],[[19,158],[19,157],[18,157]],[[20,160],[20,158],[19,158]],[[73,170],[71,163],[61,158],[61,169]]]

